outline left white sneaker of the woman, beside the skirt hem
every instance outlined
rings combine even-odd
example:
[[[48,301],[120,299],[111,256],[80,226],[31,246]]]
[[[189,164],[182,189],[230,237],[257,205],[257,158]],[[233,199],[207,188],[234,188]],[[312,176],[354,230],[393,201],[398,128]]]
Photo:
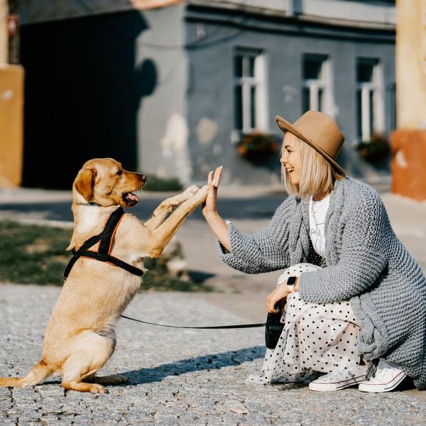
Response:
[[[340,391],[340,389],[356,386],[364,381],[366,371],[366,366],[356,366],[356,368],[348,368],[347,370],[337,368],[337,370],[310,382],[309,388],[311,391],[320,392]]]

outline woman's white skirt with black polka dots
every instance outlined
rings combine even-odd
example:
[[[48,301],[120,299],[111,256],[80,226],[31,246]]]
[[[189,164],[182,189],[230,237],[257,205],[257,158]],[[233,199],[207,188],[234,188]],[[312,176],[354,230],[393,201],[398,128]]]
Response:
[[[290,266],[278,279],[315,271],[319,266],[299,263]],[[283,313],[283,332],[275,349],[266,349],[261,375],[249,376],[248,383],[288,383],[308,381],[336,368],[359,366],[356,348],[360,327],[349,302],[317,305],[305,303],[299,293],[291,293]]]

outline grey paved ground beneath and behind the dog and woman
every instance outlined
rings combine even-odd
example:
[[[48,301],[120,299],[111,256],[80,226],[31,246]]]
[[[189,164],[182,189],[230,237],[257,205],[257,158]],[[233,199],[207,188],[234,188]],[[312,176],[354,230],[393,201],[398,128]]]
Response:
[[[426,202],[376,186],[395,233],[426,271]],[[141,192],[129,210],[141,219],[174,194]],[[285,198],[281,187],[221,187],[219,211],[242,231],[268,224]],[[0,219],[72,226],[70,192],[1,190]],[[187,268],[216,293],[141,293],[127,313],[172,324],[263,322],[266,295],[279,271],[246,275],[224,265],[200,212],[177,234]],[[58,288],[1,286],[0,375],[23,374],[41,351]],[[56,379],[35,388],[0,388],[0,424],[46,425],[424,425],[426,397],[415,390],[363,394],[356,389],[313,393],[305,385],[249,386],[264,353],[263,330],[175,331],[121,320],[118,346],[104,373],[129,385],[108,395],[65,392]]]

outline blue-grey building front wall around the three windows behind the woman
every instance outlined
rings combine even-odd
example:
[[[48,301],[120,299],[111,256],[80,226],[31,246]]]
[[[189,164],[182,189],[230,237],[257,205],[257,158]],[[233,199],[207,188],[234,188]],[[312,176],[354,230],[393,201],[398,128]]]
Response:
[[[242,16],[242,18],[241,18]],[[332,68],[334,118],[346,135],[339,161],[349,175],[365,176],[377,172],[363,162],[352,147],[357,141],[356,129],[356,59],[376,58],[383,70],[383,87],[395,82],[394,33],[342,26],[310,23],[301,25],[285,18],[261,15],[220,16],[212,9],[190,8],[187,15],[187,38],[196,26],[214,33],[217,43],[208,40],[199,47],[187,49],[190,82],[187,95],[187,119],[193,178],[202,180],[216,165],[224,165],[223,181],[268,183],[278,180],[278,158],[269,165],[253,165],[236,153],[231,141],[234,131],[234,71],[236,48],[261,50],[266,56],[268,131],[277,133],[276,114],[295,121],[302,114],[302,55],[327,55]],[[391,130],[389,105],[391,95],[383,92],[385,128]],[[209,143],[200,142],[197,129],[202,121],[212,121],[216,133]],[[280,136],[281,137],[281,136]]]

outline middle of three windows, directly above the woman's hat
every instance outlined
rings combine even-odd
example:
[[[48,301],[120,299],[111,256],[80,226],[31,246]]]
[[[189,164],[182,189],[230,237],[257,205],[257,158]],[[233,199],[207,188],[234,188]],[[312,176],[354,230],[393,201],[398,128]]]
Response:
[[[330,113],[327,56],[303,55],[302,77],[302,114],[310,109]]]

